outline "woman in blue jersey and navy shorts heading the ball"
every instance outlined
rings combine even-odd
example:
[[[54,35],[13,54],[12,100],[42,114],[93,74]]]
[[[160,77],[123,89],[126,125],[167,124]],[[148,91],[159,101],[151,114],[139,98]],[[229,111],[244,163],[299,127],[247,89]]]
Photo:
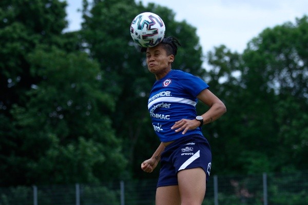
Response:
[[[218,119],[226,107],[201,78],[171,69],[178,46],[174,37],[164,37],[155,47],[141,48],[146,53],[148,70],[156,77],[148,110],[161,140],[141,169],[152,172],[161,162],[156,204],[200,205],[211,167],[210,146],[201,127]],[[209,107],[200,115],[196,111],[198,99]]]

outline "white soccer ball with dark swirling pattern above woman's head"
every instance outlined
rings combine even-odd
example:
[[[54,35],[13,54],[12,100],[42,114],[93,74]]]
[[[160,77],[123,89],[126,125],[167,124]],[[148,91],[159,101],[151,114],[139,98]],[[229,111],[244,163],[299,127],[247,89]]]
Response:
[[[161,43],[165,30],[161,17],[151,12],[137,15],[130,25],[130,35],[141,47],[154,47]]]

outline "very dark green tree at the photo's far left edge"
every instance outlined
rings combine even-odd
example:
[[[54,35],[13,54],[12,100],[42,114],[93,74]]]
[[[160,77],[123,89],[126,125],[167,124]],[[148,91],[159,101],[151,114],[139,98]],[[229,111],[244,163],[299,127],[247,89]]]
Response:
[[[21,158],[16,156],[21,128],[13,125],[12,107],[25,106],[25,92],[40,81],[31,76],[26,56],[38,44],[53,44],[66,27],[65,3],[59,1],[1,1],[0,3],[0,125],[1,184],[24,183]],[[49,39],[49,40],[48,40]],[[34,148],[31,148],[34,149]]]

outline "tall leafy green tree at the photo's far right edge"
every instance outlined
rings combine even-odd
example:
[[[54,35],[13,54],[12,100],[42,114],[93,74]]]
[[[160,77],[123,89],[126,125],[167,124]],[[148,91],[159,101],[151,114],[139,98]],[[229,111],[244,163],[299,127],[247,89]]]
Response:
[[[258,116],[262,117],[260,130],[272,129],[261,136],[265,135],[266,150],[276,171],[308,168],[304,162],[308,156],[307,45],[308,18],[303,16],[295,24],[265,29],[243,53],[247,90],[254,96],[271,94],[259,100],[262,110]]]

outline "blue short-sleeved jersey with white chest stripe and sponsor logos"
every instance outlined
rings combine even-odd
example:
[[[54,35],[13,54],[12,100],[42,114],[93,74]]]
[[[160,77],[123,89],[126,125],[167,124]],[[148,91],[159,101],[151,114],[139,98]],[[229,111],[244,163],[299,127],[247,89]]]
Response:
[[[155,82],[148,99],[148,110],[153,129],[162,142],[191,134],[202,135],[200,128],[188,130],[183,135],[171,130],[171,127],[183,118],[196,118],[197,95],[208,87],[201,78],[180,70],[171,70]]]

